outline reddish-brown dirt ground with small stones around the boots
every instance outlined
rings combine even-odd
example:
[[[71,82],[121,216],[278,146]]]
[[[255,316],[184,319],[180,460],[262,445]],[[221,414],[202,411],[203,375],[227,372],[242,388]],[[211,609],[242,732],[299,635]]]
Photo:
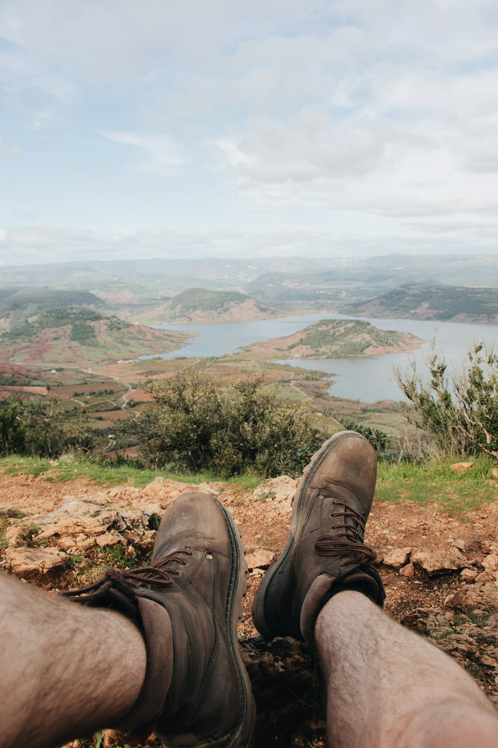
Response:
[[[284,547],[290,521],[290,496],[295,485],[291,479],[282,478],[267,482],[255,491],[234,490],[225,484],[205,486],[234,516],[246,546],[246,557],[263,554],[263,561],[260,560],[258,566],[256,563],[255,568],[249,565],[248,591],[239,626],[240,638],[246,642],[258,635],[251,618],[252,599],[271,554],[278,557]],[[13,509],[28,515],[46,514],[75,499],[105,501],[106,510],[139,509],[144,502],[153,500],[164,509],[176,495],[188,490],[192,487],[173,481],[164,481],[162,488],[151,488],[147,492],[147,488],[93,485],[84,477],[57,483],[46,482],[43,476],[4,473],[0,474],[0,507],[5,516],[10,512],[8,522],[16,526],[21,521],[12,516],[10,510]],[[498,571],[494,568],[498,561],[497,528],[498,503],[455,518],[438,510],[437,505],[420,508],[408,503],[376,503],[374,500],[365,537],[378,554],[379,571],[387,592],[386,612],[404,625],[431,637],[455,657],[461,666],[472,672],[495,705],[498,705],[498,605],[494,606],[493,601],[498,587]],[[387,554],[400,548],[408,549],[407,553],[451,554],[458,551],[464,561],[456,564],[458,568],[440,569],[436,573],[426,571],[417,563],[412,568],[405,564],[405,573],[400,574],[398,568],[383,562]],[[0,566],[3,564],[9,571],[7,562],[1,560],[6,552],[5,549],[0,551]],[[461,571],[462,568],[467,571]],[[28,581],[46,589],[78,586],[81,582],[71,568],[64,568],[57,574],[31,574]],[[464,603],[452,602],[452,595],[459,600],[467,589],[479,593],[480,597],[474,596],[474,602],[467,607]],[[294,650],[293,656],[296,656]],[[305,661],[303,668],[312,668],[311,655],[305,653],[302,657]],[[305,713],[306,710],[303,712],[305,702],[301,696],[296,711],[293,696],[287,694],[290,708],[284,708],[271,726],[264,721],[267,716],[260,718],[260,748],[326,746],[323,697],[316,696],[323,687],[320,686],[320,676],[313,677],[313,684],[310,686],[310,681],[307,681],[306,685],[306,688],[315,690],[315,696],[310,699],[313,704],[309,714]],[[264,708],[262,711],[267,715]],[[281,719],[280,723],[278,719]],[[115,745],[117,739],[107,735],[105,744],[107,741],[108,746]],[[155,743],[151,738],[147,744]]]

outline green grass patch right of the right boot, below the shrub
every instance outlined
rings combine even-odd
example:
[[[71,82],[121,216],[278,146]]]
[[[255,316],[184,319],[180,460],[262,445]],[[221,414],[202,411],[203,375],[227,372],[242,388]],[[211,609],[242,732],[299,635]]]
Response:
[[[438,505],[450,514],[479,509],[498,500],[498,485],[491,470],[496,462],[485,456],[470,459],[473,468],[455,473],[450,466],[457,458],[444,458],[422,465],[379,463],[376,501]]]

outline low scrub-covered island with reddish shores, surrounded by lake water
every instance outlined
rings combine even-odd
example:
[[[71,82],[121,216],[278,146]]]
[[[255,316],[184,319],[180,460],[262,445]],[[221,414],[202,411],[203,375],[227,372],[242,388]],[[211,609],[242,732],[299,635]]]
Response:
[[[356,319],[320,319],[304,330],[241,349],[264,358],[346,358],[405,353],[424,340],[409,332],[379,330]]]

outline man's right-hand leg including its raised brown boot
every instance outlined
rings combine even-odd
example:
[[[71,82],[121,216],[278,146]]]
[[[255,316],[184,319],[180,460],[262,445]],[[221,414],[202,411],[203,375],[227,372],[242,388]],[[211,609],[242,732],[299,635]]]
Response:
[[[376,554],[363,542],[375,484],[375,452],[355,432],[314,454],[284,553],[255,595],[256,628],[317,649],[331,747],[496,748],[496,712],[472,678],[381,610]]]

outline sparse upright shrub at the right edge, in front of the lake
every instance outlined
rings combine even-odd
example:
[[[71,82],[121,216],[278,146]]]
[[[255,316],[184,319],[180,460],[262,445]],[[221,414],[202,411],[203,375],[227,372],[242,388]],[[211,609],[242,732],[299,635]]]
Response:
[[[467,353],[463,370],[449,378],[443,356],[426,359],[429,382],[412,366],[395,370],[396,381],[414,414],[407,420],[429,431],[443,453],[498,457],[498,356],[482,343]]]

